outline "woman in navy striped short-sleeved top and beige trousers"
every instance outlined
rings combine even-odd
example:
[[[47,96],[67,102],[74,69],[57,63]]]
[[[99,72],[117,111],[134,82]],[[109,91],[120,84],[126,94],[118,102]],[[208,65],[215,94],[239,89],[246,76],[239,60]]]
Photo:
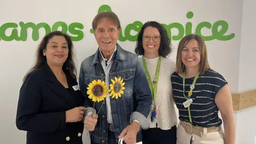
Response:
[[[225,78],[210,68],[203,39],[194,34],[183,37],[176,62],[171,82],[180,119],[177,144],[234,144],[231,94]]]

